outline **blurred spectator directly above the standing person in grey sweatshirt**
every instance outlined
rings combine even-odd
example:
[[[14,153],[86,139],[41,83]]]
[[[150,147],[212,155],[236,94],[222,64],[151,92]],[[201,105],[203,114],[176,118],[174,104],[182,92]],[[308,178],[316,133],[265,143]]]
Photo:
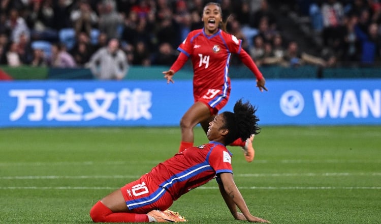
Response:
[[[118,14],[114,0],[103,0],[99,5],[100,32],[106,33],[108,38],[119,38],[118,27],[123,19]]]

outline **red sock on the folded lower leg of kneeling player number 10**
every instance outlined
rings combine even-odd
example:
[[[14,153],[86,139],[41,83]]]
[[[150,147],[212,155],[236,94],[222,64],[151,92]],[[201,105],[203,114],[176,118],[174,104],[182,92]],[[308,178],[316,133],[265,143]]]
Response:
[[[146,214],[112,212],[101,201],[92,206],[90,217],[94,222],[148,222]]]

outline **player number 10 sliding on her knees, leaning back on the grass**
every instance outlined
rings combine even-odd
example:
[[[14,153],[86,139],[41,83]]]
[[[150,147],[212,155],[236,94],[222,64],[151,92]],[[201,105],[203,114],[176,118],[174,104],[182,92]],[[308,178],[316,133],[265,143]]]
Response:
[[[182,194],[216,178],[235,219],[269,222],[248,210],[233,180],[232,154],[226,148],[237,138],[246,139],[259,133],[256,110],[249,102],[237,101],[234,113],[225,111],[209,122],[206,133],[209,143],[175,154],[139,180],[110,193],[91,208],[90,217],[94,222],[186,221],[168,208]]]

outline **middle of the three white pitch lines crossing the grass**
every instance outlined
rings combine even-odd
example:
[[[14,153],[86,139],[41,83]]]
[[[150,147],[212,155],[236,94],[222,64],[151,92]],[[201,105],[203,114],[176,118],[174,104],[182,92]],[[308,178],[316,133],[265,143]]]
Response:
[[[234,177],[338,177],[338,176],[381,176],[381,173],[279,173],[279,174],[235,174]],[[39,180],[39,179],[137,179],[139,175],[111,176],[5,176],[0,180]]]

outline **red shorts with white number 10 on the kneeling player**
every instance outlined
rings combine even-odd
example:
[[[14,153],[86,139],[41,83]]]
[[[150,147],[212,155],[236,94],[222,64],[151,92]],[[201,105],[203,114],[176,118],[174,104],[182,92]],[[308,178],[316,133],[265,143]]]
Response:
[[[148,175],[120,188],[131,212],[146,214],[153,209],[164,211],[173,204],[172,196],[154,183]]]

